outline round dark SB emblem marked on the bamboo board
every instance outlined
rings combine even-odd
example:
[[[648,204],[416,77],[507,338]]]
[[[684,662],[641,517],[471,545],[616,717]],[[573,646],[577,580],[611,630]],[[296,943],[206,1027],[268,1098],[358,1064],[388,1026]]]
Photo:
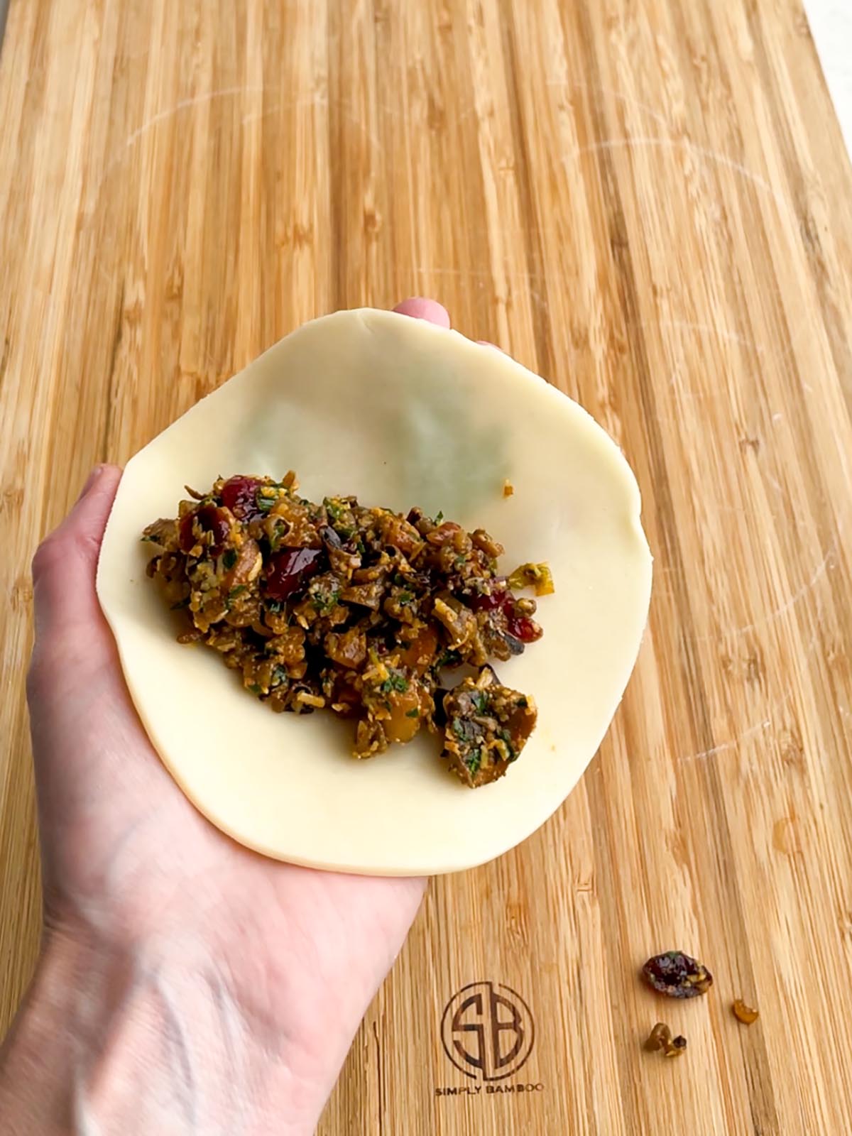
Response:
[[[446,1003],[441,1019],[444,1052],[466,1077],[511,1077],[533,1051],[535,1027],[524,999],[499,983],[470,983]]]

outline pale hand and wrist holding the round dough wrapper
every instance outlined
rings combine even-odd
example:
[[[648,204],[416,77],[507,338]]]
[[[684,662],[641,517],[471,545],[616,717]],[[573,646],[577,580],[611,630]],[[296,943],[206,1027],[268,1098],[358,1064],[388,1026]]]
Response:
[[[395,310],[450,326],[432,300]],[[120,476],[99,467],[33,562],[45,929],[0,1049],[2,1130],[307,1136],[425,880],[264,859],[177,790],[94,592]]]

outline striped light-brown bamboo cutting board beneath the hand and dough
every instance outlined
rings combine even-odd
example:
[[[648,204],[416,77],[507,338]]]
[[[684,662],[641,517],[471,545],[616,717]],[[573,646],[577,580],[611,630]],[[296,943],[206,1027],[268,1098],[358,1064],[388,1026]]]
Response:
[[[302,320],[419,293],[618,438],[655,591],[600,754],[431,885],[321,1134],[852,1130],[852,174],[799,5],[12,0],[0,162],[0,1029],[39,536]],[[705,999],[641,986],[668,947]]]

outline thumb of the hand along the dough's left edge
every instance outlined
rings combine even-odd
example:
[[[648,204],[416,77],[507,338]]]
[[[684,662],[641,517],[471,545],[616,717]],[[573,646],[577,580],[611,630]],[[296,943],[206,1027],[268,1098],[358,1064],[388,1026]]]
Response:
[[[36,650],[53,635],[100,619],[94,573],[120,477],[116,466],[95,468],[70,513],[33,558]]]

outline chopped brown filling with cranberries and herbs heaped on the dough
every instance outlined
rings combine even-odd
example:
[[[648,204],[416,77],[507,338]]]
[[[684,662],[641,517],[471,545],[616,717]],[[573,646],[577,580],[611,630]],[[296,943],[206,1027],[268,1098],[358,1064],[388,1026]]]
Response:
[[[292,473],[219,478],[145,528],[159,548],[148,575],[186,615],[178,641],[218,651],[273,710],[354,719],[358,758],[443,729],[465,784],[502,777],[536,710],[486,663],[541,638],[535,600],[515,590],[552,592],[546,566],[507,579],[484,529],[351,496],[314,504],[296,488]],[[462,665],[477,677],[444,690],[442,675]]]

